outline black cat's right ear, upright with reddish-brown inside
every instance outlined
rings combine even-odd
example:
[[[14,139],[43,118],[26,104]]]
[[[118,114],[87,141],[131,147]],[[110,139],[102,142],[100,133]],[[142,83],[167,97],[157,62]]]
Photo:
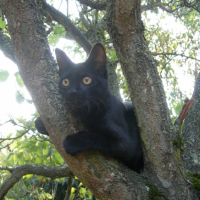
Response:
[[[86,62],[93,63],[95,70],[98,70],[107,76],[106,52],[101,43],[94,45]]]

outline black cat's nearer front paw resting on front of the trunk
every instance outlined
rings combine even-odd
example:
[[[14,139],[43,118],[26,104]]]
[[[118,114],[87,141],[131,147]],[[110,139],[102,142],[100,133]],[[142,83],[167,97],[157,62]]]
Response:
[[[81,134],[84,134],[84,131],[82,131],[82,133],[79,132],[70,134],[65,138],[63,146],[66,153],[70,154],[71,156],[75,156],[77,153],[84,151],[82,147],[83,141],[81,142],[81,137],[80,137]]]

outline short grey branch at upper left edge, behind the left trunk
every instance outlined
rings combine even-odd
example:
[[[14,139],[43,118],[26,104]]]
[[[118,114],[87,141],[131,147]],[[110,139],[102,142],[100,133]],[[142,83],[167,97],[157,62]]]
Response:
[[[1,29],[0,29],[0,50],[3,51],[4,55],[7,58],[9,58],[15,64],[17,64],[11,40],[7,35],[4,34],[3,30]]]

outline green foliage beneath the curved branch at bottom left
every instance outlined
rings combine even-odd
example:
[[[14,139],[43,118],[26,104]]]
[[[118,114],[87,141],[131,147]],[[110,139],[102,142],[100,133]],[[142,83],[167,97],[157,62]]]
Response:
[[[21,190],[19,190],[21,187]],[[68,188],[68,180],[66,178],[50,180],[44,177],[30,175],[23,179],[13,187],[12,192],[8,193],[8,198],[15,198],[17,193],[22,200],[44,200],[54,199],[63,200],[66,196]],[[95,196],[76,178],[73,179],[70,200],[98,200]]]

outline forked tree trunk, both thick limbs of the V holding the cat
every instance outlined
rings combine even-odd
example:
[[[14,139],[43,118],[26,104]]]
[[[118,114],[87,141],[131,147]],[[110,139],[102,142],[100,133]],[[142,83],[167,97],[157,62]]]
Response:
[[[99,199],[149,199],[146,179],[169,199],[195,199],[170,145],[173,127],[156,62],[143,36],[140,1],[108,0],[107,26],[129,85],[141,128],[144,177],[97,152],[72,157],[62,142],[80,125],[64,106],[58,75],[34,0],[3,0],[19,71],[56,149],[71,171]],[[182,172],[182,173],[181,173]]]

